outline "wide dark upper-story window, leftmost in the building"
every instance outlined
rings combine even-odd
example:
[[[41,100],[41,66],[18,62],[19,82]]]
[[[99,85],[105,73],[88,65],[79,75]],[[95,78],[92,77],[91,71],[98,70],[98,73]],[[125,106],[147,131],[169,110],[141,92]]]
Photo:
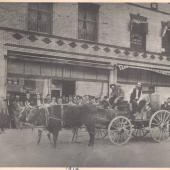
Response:
[[[51,34],[52,14],[51,3],[28,4],[28,30]]]

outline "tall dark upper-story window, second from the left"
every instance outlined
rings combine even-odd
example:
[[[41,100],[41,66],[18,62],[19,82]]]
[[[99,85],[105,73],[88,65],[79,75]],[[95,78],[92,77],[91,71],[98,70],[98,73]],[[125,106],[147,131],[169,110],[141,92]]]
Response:
[[[78,38],[97,41],[99,6],[80,3],[78,6]]]

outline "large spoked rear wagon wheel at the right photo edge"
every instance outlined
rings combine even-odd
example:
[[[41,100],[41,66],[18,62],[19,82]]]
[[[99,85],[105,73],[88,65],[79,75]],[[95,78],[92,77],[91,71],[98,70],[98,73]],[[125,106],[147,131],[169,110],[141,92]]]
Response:
[[[149,128],[156,142],[167,140],[170,132],[170,112],[167,110],[155,112],[150,119]]]

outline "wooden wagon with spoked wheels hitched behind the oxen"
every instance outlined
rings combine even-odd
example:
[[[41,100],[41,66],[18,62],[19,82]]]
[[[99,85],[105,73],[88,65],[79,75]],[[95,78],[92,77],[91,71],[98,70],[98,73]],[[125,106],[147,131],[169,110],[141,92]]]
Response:
[[[122,145],[131,137],[144,137],[150,133],[156,142],[163,142],[170,134],[170,112],[160,109],[159,95],[152,94],[150,109],[140,116],[131,117],[129,108],[124,110],[108,110],[98,108],[96,116],[96,138],[108,135],[113,144]]]

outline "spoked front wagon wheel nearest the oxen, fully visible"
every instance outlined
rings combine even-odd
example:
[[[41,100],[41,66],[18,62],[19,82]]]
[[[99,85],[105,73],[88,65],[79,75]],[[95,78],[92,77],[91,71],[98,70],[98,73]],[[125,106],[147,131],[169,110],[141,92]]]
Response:
[[[132,135],[132,124],[124,116],[114,118],[108,126],[109,139],[113,144],[123,145],[129,141]]]

